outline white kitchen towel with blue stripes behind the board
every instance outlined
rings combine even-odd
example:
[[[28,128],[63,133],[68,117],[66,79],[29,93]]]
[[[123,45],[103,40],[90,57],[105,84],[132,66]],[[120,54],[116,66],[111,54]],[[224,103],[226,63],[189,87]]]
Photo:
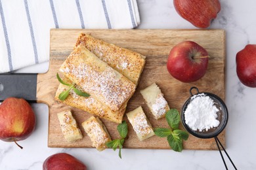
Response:
[[[51,28],[131,29],[136,0],[0,0],[0,73],[49,61]]]

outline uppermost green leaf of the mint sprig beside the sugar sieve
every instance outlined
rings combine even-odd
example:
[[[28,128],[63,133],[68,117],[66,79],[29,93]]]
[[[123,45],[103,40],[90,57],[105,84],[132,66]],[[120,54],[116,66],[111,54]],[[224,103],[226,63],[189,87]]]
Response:
[[[166,113],[165,118],[172,129],[179,129],[179,123],[181,121],[181,118],[177,109],[170,109]]]

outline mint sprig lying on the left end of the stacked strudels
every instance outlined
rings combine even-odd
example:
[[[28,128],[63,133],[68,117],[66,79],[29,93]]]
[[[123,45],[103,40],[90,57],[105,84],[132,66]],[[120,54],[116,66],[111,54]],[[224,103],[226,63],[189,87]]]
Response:
[[[58,78],[58,81],[61,83],[61,84],[64,84],[65,86],[68,86],[68,90],[65,90],[64,92],[60,93],[60,95],[58,95],[58,99],[60,99],[61,101],[64,101],[69,93],[70,93],[70,90],[74,90],[75,93],[77,93],[77,95],[81,95],[83,97],[89,97],[90,94],[89,93],[86,93],[86,92],[82,92],[80,90],[78,90],[77,88],[75,88],[75,84],[68,84],[66,82],[64,82],[60,76],[58,75],[58,73],[56,74],[57,78]]]

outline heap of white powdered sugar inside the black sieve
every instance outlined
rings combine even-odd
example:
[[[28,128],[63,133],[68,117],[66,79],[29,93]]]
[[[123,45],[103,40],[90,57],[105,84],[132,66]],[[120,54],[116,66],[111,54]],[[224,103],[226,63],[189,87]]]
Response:
[[[219,126],[217,112],[213,99],[205,94],[195,95],[184,112],[186,124],[194,131],[208,131]]]

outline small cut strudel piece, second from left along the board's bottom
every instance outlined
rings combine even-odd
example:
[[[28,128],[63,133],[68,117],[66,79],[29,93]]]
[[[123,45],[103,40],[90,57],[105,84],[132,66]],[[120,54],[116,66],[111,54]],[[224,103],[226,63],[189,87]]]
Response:
[[[91,116],[91,118],[82,123],[82,126],[87,135],[91,138],[93,147],[99,151],[102,151],[107,147],[106,143],[111,141],[111,137],[99,118]]]

